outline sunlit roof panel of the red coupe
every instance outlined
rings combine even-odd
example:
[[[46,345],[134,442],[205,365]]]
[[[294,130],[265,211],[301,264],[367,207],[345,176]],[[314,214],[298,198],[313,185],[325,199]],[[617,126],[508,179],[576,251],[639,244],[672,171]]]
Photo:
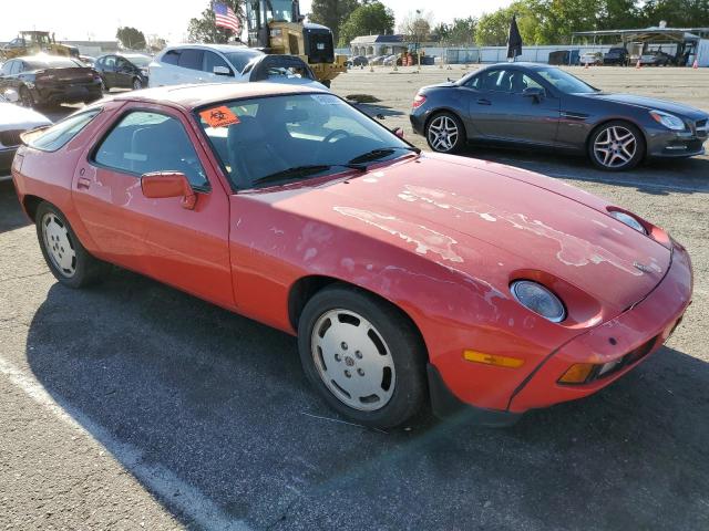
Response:
[[[331,94],[316,86],[288,85],[285,83],[199,83],[169,85],[142,91],[126,92],[112,97],[114,101],[137,101],[145,103],[168,103],[193,110],[212,103],[247,97],[278,96],[288,94]]]

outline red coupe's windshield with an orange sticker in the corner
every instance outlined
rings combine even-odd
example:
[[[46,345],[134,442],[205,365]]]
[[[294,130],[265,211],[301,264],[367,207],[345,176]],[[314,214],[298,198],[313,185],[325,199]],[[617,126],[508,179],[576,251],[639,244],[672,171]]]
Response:
[[[332,94],[238,100],[196,116],[237,190],[362,170],[417,150]]]

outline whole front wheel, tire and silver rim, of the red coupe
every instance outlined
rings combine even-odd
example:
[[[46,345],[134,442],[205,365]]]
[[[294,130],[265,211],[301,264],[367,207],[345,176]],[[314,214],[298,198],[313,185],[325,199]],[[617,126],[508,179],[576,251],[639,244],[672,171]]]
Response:
[[[298,326],[306,375],[330,406],[359,424],[400,426],[425,397],[425,352],[388,303],[332,287],[306,305]]]

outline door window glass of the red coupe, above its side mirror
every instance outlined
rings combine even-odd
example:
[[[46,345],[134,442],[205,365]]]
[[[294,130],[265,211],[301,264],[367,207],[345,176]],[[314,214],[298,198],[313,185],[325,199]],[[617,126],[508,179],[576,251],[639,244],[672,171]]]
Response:
[[[161,113],[133,111],[111,129],[93,159],[105,167],[134,175],[181,171],[197,189],[209,181],[197,153],[178,119]]]

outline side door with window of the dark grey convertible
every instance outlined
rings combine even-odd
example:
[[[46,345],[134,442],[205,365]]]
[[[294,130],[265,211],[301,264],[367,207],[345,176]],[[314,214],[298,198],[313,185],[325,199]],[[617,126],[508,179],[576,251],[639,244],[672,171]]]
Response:
[[[480,136],[492,140],[554,145],[559,121],[559,100],[542,81],[520,69],[485,70],[476,76],[470,97],[470,121]],[[541,98],[525,88],[543,88]]]

